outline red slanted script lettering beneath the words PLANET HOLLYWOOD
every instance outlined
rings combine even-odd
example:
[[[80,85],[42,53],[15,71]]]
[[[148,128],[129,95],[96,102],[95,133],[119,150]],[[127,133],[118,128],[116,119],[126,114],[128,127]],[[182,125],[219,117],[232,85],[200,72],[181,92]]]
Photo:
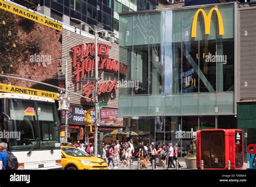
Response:
[[[102,93],[110,93],[113,92],[114,90],[117,90],[118,87],[118,81],[115,79],[114,81],[109,81],[105,83],[98,84],[98,95]],[[95,91],[95,83],[93,82],[88,82],[83,86],[83,92],[85,97],[89,97],[92,95],[92,92]],[[95,99],[94,97],[91,99]],[[85,102],[91,102],[90,99],[85,99]]]

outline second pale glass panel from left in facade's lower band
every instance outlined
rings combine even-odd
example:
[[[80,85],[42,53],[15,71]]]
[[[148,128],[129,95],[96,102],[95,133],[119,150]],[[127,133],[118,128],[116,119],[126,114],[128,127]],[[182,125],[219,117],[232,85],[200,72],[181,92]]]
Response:
[[[133,96],[132,100],[134,116],[147,115],[147,96]]]

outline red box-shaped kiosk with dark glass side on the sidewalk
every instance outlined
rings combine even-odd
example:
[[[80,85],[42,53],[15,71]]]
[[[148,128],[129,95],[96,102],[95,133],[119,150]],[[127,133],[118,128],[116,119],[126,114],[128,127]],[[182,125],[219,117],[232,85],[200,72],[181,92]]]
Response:
[[[197,168],[242,169],[244,166],[243,134],[239,129],[209,129],[197,131]]]

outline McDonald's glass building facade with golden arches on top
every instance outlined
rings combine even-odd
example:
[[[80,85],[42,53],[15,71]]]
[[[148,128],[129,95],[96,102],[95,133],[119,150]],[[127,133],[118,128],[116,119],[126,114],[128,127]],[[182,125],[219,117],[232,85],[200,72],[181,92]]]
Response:
[[[150,141],[178,142],[178,132],[235,128],[235,4],[121,13],[119,115],[150,132]],[[136,119],[133,119],[136,117]],[[187,133],[189,135],[189,133]]]

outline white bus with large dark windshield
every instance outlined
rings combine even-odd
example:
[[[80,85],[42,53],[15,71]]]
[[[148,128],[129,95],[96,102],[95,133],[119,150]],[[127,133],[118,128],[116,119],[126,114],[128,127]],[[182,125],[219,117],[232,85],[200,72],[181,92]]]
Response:
[[[18,169],[62,169],[54,99],[0,92],[0,115],[0,142],[8,143]]]

